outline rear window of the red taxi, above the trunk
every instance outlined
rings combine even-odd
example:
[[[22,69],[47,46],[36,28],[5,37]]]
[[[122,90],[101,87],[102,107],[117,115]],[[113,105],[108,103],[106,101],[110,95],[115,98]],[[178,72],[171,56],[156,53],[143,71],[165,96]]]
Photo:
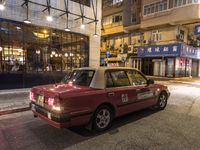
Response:
[[[75,70],[64,77],[63,82],[72,82],[73,85],[89,86],[94,76],[94,70]]]

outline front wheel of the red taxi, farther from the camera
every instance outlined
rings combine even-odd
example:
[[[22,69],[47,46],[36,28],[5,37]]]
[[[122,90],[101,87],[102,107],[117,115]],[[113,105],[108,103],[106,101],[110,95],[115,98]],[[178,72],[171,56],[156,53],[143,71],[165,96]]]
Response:
[[[165,92],[161,92],[159,97],[158,97],[158,102],[155,105],[155,108],[157,110],[165,109],[165,107],[167,106],[167,99],[168,99],[167,94]]]

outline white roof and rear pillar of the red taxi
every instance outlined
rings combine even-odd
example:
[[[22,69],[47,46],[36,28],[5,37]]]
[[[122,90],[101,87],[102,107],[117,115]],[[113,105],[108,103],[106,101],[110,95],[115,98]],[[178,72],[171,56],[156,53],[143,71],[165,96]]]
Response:
[[[94,77],[90,83],[90,87],[97,88],[97,89],[105,89],[105,71],[106,70],[137,70],[130,67],[99,67],[99,68],[92,68],[92,67],[84,67],[84,68],[77,68],[74,70],[95,70]]]

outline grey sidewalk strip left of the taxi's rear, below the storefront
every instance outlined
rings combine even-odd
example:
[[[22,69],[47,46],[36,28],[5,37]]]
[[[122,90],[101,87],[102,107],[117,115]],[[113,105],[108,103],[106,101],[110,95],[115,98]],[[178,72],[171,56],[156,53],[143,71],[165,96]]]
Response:
[[[29,110],[29,90],[0,90],[0,116]]]

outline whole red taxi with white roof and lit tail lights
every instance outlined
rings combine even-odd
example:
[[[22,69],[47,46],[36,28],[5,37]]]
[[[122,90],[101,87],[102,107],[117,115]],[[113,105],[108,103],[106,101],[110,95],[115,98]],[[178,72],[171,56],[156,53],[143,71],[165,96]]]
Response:
[[[132,68],[80,68],[59,84],[33,87],[35,117],[63,128],[91,124],[103,131],[114,118],[147,107],[162,110],[170,93]]]

